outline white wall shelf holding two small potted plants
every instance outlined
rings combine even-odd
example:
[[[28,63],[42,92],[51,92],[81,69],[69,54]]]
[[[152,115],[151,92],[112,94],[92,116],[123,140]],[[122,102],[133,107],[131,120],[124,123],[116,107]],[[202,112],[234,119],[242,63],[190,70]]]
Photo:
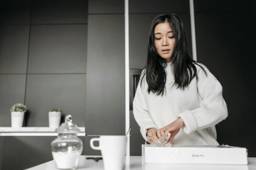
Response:
[[[85,127],[78,127],[81,132],[78,136],[85,136]],[[0,136],[57,136],[57,128],[50,127],[0,127]]]

